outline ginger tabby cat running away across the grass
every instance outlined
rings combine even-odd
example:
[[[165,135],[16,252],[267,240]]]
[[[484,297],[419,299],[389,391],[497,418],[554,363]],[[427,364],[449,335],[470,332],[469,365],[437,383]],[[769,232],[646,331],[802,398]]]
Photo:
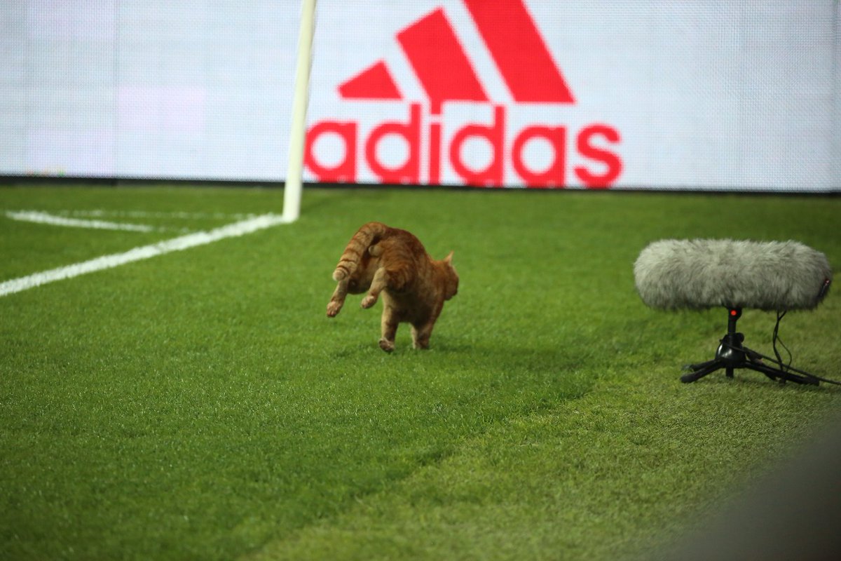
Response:
[[[380,222],[368,222],[357,230],[341,254],[333,280],[338,284],[327,304],[328,317],[336,317],[347,294],[368,291],[362,308],[373,306],[382,294],[379,347],[386,352],[394,351],[400,323],[411,325],[416,349],[429,348],[432,327],[444,302],[458,292],[452,251],[436,261],[413,234]]]

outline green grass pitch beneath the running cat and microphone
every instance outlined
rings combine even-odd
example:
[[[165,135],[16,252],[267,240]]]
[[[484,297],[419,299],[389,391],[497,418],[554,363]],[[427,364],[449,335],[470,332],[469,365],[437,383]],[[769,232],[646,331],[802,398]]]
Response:
[[[279,213],[251,188],[0,188],[0,282]],[[153,225],[13,220],[38,210]],[[0,297],[0,558],[616,559],[680,542],[790,458],[841,392],[681,384],[722,310],[646,308],[661,238],[801,241],[841,264],[841,198],[307,189],[301,219]],[[431,350],[334,320],[359,225],[454,250]],[[841,299],[791,312],[797,368],[841,378]],[[739,331],[769,354],[775,317]]]

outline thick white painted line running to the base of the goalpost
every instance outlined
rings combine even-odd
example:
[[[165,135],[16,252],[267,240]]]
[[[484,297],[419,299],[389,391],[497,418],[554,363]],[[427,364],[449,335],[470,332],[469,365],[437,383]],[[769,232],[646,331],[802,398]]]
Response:
[[[113,253],[111,255],[103,255],[96,257],[89,261],[81,263],[74,263],[66,267],[58,267],[43,271],[41,273],[34,273],[28,277],[13,278],[8,281],[0,283],[0,296],[7,294],[14,294],[21,292],[27,288],[34,288],[41,284],[52,283],[64,278],[78,277],[86,273],[93,273],[95,271],[102,271],[112,267],[119,267],[126,263],[141,261],[150,257],[156,257],[170,253],[172,251],[182,251],[195,246],[204,246],[205,244],[213,243],[214,241],[224,240],[225,238],[244,236],[251,234],[257,230],[263,230],[278,224],[287,224],[279,214],[262,214],[248,220],[240,220],[229,225],[220,226],[214,230],[195,232],[186,236],[179,236],[170,240],[159,241],[148,246],[135,247],[124,253]]]

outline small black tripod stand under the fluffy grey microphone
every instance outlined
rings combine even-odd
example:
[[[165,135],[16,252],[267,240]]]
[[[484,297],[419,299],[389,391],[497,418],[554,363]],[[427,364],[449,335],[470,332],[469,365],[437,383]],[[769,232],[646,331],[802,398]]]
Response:
[[[772,380],[778,380],[780,384],[785,384],[786,381],[795,382],[796,384],[818,384],[818,379],[810,373],[803,375],[789,372],[782,368],[770,366],[764,363],[762,355],[759,352],[751,351],[748,347],[744,347],[742,342],[744,336],[736,332],[736,321],[742,317],[741,308],[727,308],[727,335],[725,335],[718,345],[716,350],[716,357],[706,363],[688,364],[684,370],[688,372],[680,377],[680,381],[684,383],[695,382],[703,378],[707,374],[724,369],[727,378],[733,378],[733,370],[736,368],[748,368],[756,372],[764,373]]]

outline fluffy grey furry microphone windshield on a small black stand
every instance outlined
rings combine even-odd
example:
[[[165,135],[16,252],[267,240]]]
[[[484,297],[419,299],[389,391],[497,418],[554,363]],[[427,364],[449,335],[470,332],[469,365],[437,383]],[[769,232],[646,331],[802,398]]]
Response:
[[[823,253],[796,241],[662,240],[639,254],[634,277],[652,308],[785,311],[815,308],[832,270]]]

